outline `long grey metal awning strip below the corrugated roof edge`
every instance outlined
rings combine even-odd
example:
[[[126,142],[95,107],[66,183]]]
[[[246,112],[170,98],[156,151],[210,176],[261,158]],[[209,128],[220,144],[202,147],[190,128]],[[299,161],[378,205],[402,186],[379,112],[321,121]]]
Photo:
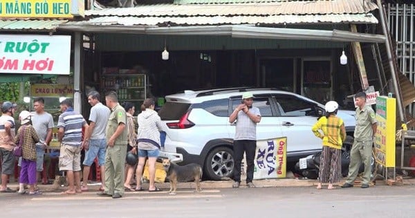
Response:
[[[266,28],[257,26],[95,26],[62,24],[59,30],[85,33],[124,33],[144,35],[228,35],[235,38],[253,39],[297,39],[323,40],[333,42],[378,42],[384,43],[384,35],[352,33],[344,30],[310,30],[297,28]]]

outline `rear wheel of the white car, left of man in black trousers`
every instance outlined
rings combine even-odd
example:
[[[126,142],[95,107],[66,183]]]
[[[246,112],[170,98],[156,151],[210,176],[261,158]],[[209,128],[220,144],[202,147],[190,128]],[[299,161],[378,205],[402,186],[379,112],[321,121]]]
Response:
[[[209,152],[205,161],[205,172],[212,180],[230,177],[234,170],[233,151],[228,147],[216,147]]]

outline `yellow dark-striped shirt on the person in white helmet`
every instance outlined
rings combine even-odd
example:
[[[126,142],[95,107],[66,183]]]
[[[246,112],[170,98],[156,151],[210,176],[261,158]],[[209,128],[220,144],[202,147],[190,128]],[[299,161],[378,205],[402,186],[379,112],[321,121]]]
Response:
[[[311,128],[315,136],[322,138],[323,146],[342,148],[342,141],[346,138],[346,131],[342,129],[344,125],[342,118],[337,116],[322,116]],[[342,131],[343,130],[343,131]]]

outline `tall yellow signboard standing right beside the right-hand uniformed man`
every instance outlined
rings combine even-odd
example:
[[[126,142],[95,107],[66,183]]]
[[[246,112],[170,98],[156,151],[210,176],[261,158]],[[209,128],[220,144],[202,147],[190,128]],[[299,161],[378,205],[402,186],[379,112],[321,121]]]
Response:
[[[376,120],[376,162],[385,167],[395,167],[396,98],[376,98]]]

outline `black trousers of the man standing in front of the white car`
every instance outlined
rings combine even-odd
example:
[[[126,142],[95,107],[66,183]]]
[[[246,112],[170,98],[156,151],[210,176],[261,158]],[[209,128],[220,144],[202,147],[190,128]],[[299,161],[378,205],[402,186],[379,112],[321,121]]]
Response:
[[[254,179],[254,159],[257,148],[256,140],[234,140],[234,181],[241,182],[241,162],[243,152],[246,153],[246,183]]]

